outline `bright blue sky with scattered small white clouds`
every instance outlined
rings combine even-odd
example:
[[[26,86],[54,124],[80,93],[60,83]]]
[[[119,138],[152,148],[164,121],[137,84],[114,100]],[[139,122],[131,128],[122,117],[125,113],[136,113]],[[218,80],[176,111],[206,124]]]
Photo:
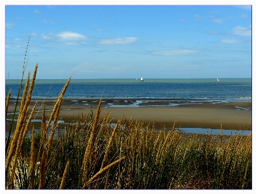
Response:
[[[6,5],[5,77],[251,77],[251,6]]]

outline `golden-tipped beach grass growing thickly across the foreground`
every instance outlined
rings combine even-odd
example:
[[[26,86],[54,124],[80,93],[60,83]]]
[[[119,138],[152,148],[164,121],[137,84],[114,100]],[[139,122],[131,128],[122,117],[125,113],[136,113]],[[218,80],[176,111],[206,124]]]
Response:
[[[31,126],[36,71],[27,77],[16,128],[6,138],[6,189],[251,189],[252,137],[185,135],[92,111],[58,125],[70,79],[42,125]],[[10,96],[6,96],[6,112]],[[18,102],[18,101],[17,101]],[[29,106],[33,106],[29,112]],[[122,115],[121,115],[122,116]],[[103,119],[101,119],[103,118]],[[52,123],[52,125],[51,125]],[[32,130],[31,136],[27,132]],[[57,136],[58,134],[58,136]]]

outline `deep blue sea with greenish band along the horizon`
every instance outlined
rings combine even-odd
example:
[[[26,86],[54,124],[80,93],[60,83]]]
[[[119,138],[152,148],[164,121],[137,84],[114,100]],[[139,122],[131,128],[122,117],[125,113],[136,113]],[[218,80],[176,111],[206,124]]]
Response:
[[[251,101],[251,79],[71,79],[64,98]],[[36,80],[33,98],[56,98],[67,80]],[[12,98],[19,80],[6,80]],[[25,83],[25,81],[23,81]],[[24,86],[23,86],[24,88]]]

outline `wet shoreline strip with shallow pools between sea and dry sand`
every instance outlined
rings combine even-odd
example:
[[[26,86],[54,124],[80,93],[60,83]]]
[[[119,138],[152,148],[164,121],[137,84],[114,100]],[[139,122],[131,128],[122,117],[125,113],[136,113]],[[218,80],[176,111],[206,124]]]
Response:
[[[47,104],[54,103],[57,98],[32,98],[31,102],[42,103],[46,102]],[[99,103],[100,98],[63,98],[63,105],[87,105],[95,106]],[[20,99],[19,99],[20,101]],[[10,104],[15,104],[16,99],[11,98]],[[251,99],[179,99],[179,98],[102,98],[101,107],[147,107],[147,106],[159,106],[159,107],[172,107],[180,106],[184,104],[218,104],[218,103],[242,103],[249,104],[245,108],[251,109]]]

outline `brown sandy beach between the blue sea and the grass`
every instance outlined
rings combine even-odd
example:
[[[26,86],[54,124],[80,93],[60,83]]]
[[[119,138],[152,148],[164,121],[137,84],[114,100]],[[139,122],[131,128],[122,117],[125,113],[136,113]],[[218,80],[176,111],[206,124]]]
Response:
[[[43,99],[33,99],[31,106],[34,101],[38,101],[37,110],[42,110]],[[46,110],[51,110],[54,99],[45,99],[45,102]],[[85,116],[90,110],[93,110],[95,115],[98,102],[99,99],[63,99],[59,118],[64,121],[76,121],[79,116],[81,117],[82,112]],[[143,123],[154,121],[156,127],[172,127],[177,119],[176,127],[181,128],[220,128],[221,126],[223,129],[234,130],[252,128],[251,102],[183,104],[172,99],[173,102],[176,106],[166,106],[170,104],[170,99],[102,99],[100,118],[110,111],[113,122],[123,116],[130,119],[133,115],[133,121],[138,120]],[[137,106],[133,106],[134,103],[137,103]],[[181,104],[177,105],[177,103]],[[14,101],[10,102],[8,112],[14,112]],[[47,111],[46,114],[49,112]],[[38,112],[35,117],[35,119],[40,118],[42,112]]]

